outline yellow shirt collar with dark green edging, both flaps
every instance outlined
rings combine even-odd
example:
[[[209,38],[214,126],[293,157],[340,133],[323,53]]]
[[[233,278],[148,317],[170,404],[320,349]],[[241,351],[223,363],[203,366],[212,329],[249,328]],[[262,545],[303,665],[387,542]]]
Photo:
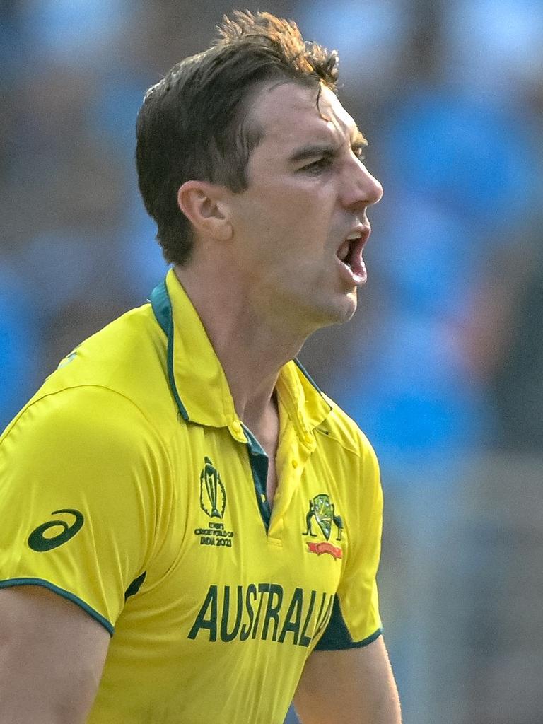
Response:
[[[200,317],[170,269],[151,294],[151,306],[167,335],[167,372],[186,421],[212,427],[237,421],[234,400],[219,358]],[[282,367],[277,393],[300,434],[311,432],[331,407],[298,360]]]

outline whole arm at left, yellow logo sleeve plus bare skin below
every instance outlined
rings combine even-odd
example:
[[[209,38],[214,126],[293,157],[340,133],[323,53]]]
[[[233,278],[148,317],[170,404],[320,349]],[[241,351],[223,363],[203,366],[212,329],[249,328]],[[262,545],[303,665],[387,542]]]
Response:
[[[152,434],[129,400],[81,387],[1,438],[0,724],[85,721],[162,525]]]

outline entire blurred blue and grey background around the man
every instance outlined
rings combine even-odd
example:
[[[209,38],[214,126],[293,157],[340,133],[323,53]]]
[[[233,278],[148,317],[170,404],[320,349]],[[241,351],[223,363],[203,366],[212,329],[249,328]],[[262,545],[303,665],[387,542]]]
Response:
[[[163,277],[135,117],[233,7],[1,1],[1,427]],[[340,99],[384,185],[359,311],[302,360],[381,461],[382,617],[405,724],[540,724],[543,4],[241,7],[339,50]]]

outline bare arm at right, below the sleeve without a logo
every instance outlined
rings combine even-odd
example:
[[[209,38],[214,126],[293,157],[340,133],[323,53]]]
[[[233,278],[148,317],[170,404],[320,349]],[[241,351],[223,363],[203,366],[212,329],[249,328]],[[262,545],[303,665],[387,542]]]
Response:
[[[314,651],[294,705],[303,724],[401,724],[382,636],[361,649]]]

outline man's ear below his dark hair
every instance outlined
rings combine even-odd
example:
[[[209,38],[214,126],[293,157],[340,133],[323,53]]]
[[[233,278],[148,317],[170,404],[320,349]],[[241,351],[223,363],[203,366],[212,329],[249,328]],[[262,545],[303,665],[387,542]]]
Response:
[[[206,181],[185,181],[177,191],[177,204],[196,232],[226,241],[232,236],[227,190]]]

